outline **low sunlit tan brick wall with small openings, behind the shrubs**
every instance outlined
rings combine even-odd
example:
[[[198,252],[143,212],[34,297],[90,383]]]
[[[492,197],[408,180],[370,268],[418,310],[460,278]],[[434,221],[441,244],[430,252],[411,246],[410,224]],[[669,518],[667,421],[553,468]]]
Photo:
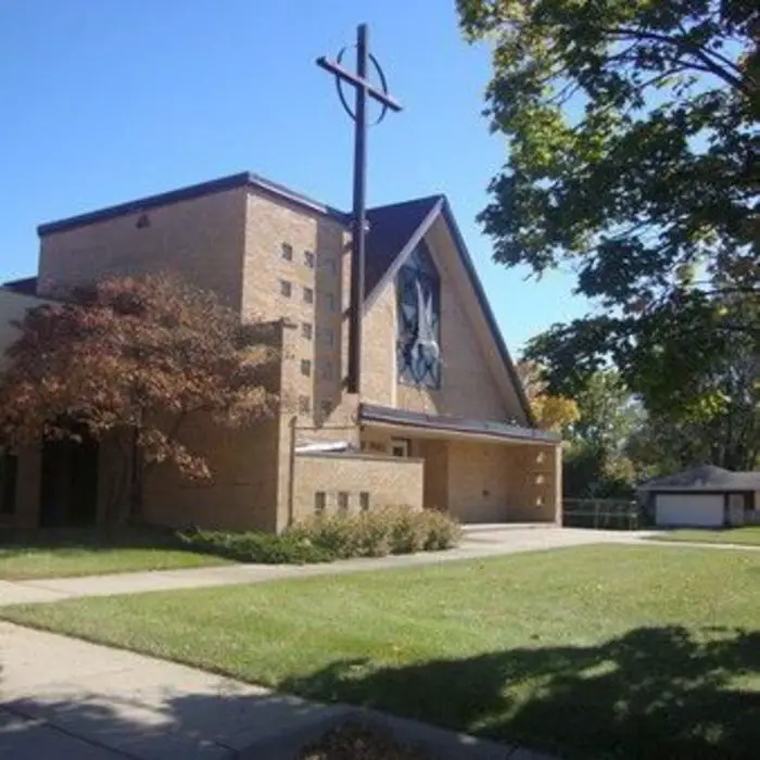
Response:
[[[299,455],[295,458],[295,520],[314,515],[315,493],[326,494],[327,511],[338,509],[338,494],[349,494],[349,510],[358,511],[359,494],[369,493],[370,509],[422,508],[422,461],[364,455]]]

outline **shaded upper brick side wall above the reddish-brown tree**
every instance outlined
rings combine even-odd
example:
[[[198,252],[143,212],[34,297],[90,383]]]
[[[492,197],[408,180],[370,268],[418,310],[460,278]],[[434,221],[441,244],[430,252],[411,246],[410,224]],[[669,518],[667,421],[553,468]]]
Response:
[[[243,188],[180,201],[42,237],[39,292],[125,274],[172,271],[240,307]]]

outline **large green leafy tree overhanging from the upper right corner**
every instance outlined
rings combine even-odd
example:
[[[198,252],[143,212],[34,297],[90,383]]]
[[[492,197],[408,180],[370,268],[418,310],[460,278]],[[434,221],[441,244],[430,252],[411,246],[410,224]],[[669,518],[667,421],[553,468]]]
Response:
[[[577,275],[599,306],[528,355],[575,395],[612,362],[655,411],[760,341],[760,11],[733,0],[458,0],[493,46],[509,155],[480,220],[495,258]],[[687,389],[689,393],[685,393]]]

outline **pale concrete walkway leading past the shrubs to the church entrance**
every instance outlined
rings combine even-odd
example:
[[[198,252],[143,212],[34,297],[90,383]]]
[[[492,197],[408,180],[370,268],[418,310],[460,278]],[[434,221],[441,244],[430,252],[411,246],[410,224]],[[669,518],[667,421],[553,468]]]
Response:
[[[125,572],[28,581],[0,581],[0,605],[58,601],[80,596],[114,596],[150,591],[175,591],[206,586],[262,583],[283,578],[332,575],[344,572],[438,565],[521,552],[604,543],[633,543],[648,533],[590,531],[555,527],[478,525],[466,530],[461,545],[447,552],[346,559],[329,565],[226,565],[187,570]]]

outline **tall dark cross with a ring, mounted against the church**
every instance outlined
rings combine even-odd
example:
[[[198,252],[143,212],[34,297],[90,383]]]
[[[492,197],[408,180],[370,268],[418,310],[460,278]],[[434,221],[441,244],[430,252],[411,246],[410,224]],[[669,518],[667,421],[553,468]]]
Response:
[[[349,393],[359,392],[359,375],[362,368],[362,312],[364,308],[364,269],[365,240],[367,235],[367,98],[380,103],[383,109],[378,122],[385,115],[388,109],[401,111],[401,105],[388,94],[385,77],[369,52],[367,25],[359,24],[356,29],[356,74],[346,71],[341,65],[345,48],[338,55],[338,61],[328,61],[325,56],[317,59],[317,65],[335,76],[338,93],[343,107],[354,119],[354,203],[352,215],[351,241],[351,306],[349,311]],[[382,89],[375,87],[367,78],[367,64],[372,63],[380,77]],[[356,93],[355,106],[352,111],[345,101],[341,85],[350,85]]]

